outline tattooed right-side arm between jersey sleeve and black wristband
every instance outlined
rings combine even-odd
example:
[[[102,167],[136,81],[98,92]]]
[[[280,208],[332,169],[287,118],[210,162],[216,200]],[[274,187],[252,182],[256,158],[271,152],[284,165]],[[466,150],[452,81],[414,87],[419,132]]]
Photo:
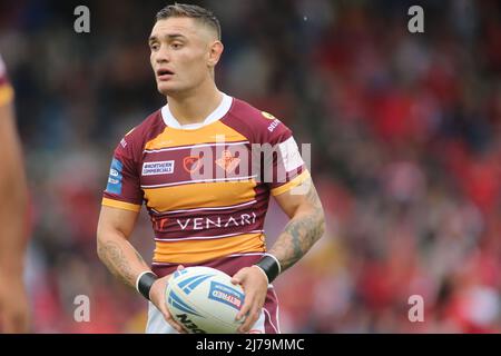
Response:
[[[291,218],[268,251],[278,259],[284,271],[298,261],[324,234],[324,210],[311,178],[275,199]]]

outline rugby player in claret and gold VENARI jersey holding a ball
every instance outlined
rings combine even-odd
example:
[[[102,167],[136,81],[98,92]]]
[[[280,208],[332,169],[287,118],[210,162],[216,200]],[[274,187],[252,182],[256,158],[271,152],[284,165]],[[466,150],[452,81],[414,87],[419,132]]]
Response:
[[[168,278],[179,266],[217,268],[242,285],[240,333],[279,333],[272,281],[324,230],[322,204],[297,145],[278,119],[216,87],[223,43],[210,11],[167,6],[157,13],[148,43],[167,103],[115,149],[97,229],[98,255],[150,300],[147,333],[185,332],[164,300]],[[254,146],[274,151],[262,149],[255,158]],[[271,196],[291,220],[267,249],[263,225]],[[128,240],[143,204],[156,241],[151,267]]]

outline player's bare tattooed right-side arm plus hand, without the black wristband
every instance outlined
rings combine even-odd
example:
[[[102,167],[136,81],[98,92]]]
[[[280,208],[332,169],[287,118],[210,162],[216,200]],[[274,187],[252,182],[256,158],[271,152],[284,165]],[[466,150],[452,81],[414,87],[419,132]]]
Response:
[[[299,186],[275,196],[275,199],[291,220],[268,254],[276,257],[281,271],[284,271],[297,263],[322,237],[325,218],[322,202],[310,177]],[[266,299],[268,278],[259,269],[243,268],[234,276],[234,280],[243,284],[246,291],[245,303],[237,316],[239,318],[248,313],[239,329],[242,333],[250,330],[257,322]]]

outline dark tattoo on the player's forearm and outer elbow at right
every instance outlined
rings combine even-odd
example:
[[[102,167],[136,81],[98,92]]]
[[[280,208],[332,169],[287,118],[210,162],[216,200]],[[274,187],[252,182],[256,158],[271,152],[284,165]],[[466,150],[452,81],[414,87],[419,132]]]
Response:
[[[312,181],[306,200],[313,209],[299,214],[288,221],[284,233],[269,250],[281,263],[282,270],[298,261],[324,234],[324,211],[318,195]]]

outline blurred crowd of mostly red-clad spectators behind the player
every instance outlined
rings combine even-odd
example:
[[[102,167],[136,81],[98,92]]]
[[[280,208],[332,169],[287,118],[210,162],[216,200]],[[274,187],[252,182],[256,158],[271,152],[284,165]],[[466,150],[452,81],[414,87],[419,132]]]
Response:
[[[111,154],[164,105],[147,38],[165,1],[0,1],[31,191],[35,333],[141,333],[98,260]],[[327,231],[276,280],[285,333],[501,332],[499,1],[193,1],[223,26],[220,90],[312,144]],[[76,33],[73,9],[90,9]],[[407,9],[424,10],[410,33]],[[1,142],[0,142],[1,147]],[[268,245],[286,222],[272,204]],[[146,211],[132,244],[151,258]],[[76,323],[77,295],[91,301]],[[407,318],[424,300],[424,322]]]

